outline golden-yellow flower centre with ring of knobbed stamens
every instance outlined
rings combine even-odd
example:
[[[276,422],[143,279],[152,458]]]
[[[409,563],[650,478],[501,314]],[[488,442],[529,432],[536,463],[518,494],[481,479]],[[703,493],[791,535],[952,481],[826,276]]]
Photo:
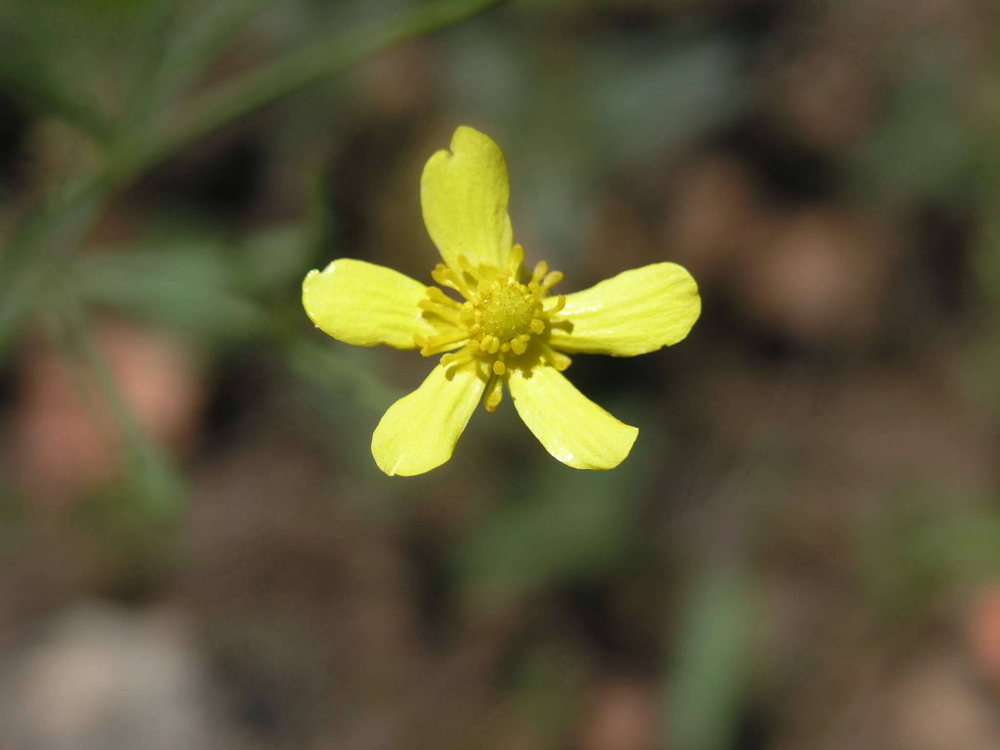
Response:
[[[543,261],[528,277],[523,262],[520,245],[512,249],[507,268],[474,266],[460,255],[458,268],[439,264],[431,275],[441,286],[462,295],[464,302],[437,287],[428,287],[427,296],[419,303],[425,317],[440,331],[432,337],[414,337],[420,353],[430,357],[446,352],[441,357],[444,367],[469,363],[479,367],[487,381],[483,403],[489,412],[500,403],[508,371],[519,366],[519,358],[529,350],[553,365],[557,364],[553,359],[559,358],[559,369],[570,364],[569,357],[554,352],[546,343],[552,321],[566,304],[566,298],[559,295],[554,305],[545,306],[562,273],[549,271]]]

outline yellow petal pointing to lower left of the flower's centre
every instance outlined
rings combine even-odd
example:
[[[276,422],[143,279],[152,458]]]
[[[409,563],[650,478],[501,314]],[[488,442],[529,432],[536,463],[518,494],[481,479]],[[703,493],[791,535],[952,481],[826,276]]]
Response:
[[[378,423],[372,435],[375,463],[390,476],[404,477],[443,464],[451,458],[484,385],[475,367],[435,367]]]

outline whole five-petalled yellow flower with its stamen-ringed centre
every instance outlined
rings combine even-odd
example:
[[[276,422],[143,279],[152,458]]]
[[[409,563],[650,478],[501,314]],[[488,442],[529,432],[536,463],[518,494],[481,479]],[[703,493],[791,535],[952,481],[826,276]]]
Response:
[[[506,383],[514,407],[545,449],[578,469],[611,469],[639,431],[580,393],[563,376],[566,353],[631,357],[683,339],[701,311],[698,287],[674,263],[620,273],[553,295],[563,275],[543,261],[530,273],[513,244],[507,165],[488,136],[459,127],[451,152],[424,167],[424,223],[444,263],[425,286],[384,266],[335,260],[310,271],[302,302],[338,341],[442,354],[423,384],[394,403],[372,436],[386,474],[422,474],[451,458],[482,398],[494,411]]]

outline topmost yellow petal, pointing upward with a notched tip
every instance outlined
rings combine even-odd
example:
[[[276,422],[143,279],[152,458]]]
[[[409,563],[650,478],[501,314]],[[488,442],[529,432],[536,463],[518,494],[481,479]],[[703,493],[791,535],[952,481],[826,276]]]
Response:
[[[506,267],[513,234],[507,215],[507,164],[493,140],[460,126],[451,153],[438,151],[420,178],[427,231],[444,262],[461,272],[458,256],[473,265]]]

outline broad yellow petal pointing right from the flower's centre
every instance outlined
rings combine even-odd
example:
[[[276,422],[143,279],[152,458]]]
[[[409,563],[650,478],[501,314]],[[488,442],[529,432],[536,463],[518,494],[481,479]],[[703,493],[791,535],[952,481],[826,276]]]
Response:
[[[555,304],[546,300],[548,306]],[[550,343],[564,352],[632,357],[676,344],[701,313],[698,285],[676,263],[654,263],[566,295]]]

